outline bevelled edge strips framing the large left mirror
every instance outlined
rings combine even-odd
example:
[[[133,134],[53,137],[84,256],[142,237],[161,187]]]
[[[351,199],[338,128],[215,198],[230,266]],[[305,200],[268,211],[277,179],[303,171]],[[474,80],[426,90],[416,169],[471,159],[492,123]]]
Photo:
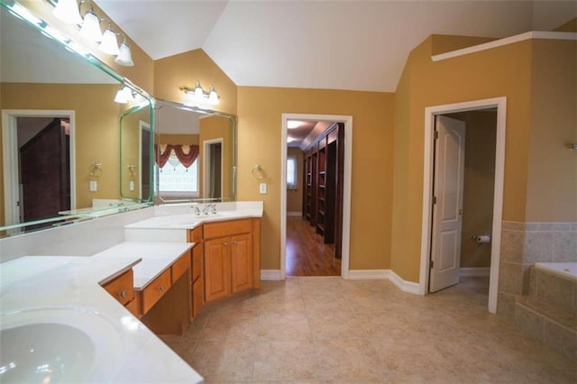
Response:
[[[15,0],[0,0],[0,7],[4,8],[8,14],[20,19],[23,23],[28,24],[36,31],[42,33],[46,38],[57,42],[60,46],[65,49],[69,50],[72,54],[77,55],[80,59],[86,60],[89,64],[95,66],[97,69],[102,70],[108,76],[114,78],[118,81],[118,86],[126,86],[131,88],[134,92],[140,94],[144,99],[146,99],[146,105],[150,106],[151,108],[151,133],[154,132],[154,124],[153,124],[153,105],[154,105],[154,98],[146,91],[144,91],[141,87],[136,86],[129,78],[125,78],[124,76],[117,73],[114,69],[108,67],[105,62],[98,59],[95,55],[93,55],[90,51],[86,50],[80,44],[78,44],[73,39],[66,36],[65,33],[60,32],[58,28],[54,28],[50,26],[45,20],[43,20],[40,16],[33,14],[28,8],[23,5],[20,5]],[[128,111],[133,110],[134,108],[142,109],[142,107],[146,105],[135,106],[130,108]],[[124,112],[123,114],[125,114]],[[119,116],[120,119],[120,116]],[[120,125],[120,124],[119,124]],[[153,155],[153,151],[151,151],[151,159]],[[122,161],[118,165],[120,174],[122,175]],[[6,188],[6,186],[5,186]],[[118,197],[122,198],[122,187],[121,190],[118,191]],[[87,221],[94,219],[99,216],[103,215],[114,215],[117,213],[128,212],[133,209],[140,209],[142,207],[151,206],[152,197],[154,196],[154,191],[151,190],[151,196],[147,199],[146,202],[137,203],[133,199],[134,204],[130,204],[127,206],[114,206],[114,207],[105,207],[105,208],[85,208],[85,209],[77,209],[74,212],[72,211],[69,215],[60,215],[56,217],[49,217],[41,220],[34,220],[31,222],[23,222],[19,224],[5,224],[0,226],[0,238],[5,236],[10,236],[14,234],[21,234],[21,233],[28,233],[28,232],[37,232],[43,229],[50,229],[54,226],[66,225],[66,224],[74,224],[82,221]],[[6,198],[6,197],[5,197]],[[2,202],[5,204],[5,201]],[[51,224],[50,227],[32,229],[30,231],[26,231],[25,228],[27,226],[32,225],[39,225],[39,224]]]

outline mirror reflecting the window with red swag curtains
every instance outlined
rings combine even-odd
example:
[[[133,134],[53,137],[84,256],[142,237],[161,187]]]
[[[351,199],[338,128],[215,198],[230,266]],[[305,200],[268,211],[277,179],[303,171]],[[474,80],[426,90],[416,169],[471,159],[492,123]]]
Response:
[[[236,199],[236,116],[157,100],[157,203]]]

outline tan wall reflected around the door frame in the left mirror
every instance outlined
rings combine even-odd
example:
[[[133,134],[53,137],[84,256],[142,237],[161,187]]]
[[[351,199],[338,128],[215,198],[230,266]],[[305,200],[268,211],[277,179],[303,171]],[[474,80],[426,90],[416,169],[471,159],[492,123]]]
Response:
[[[86,85],[2,84],[2,109],[62,109],[76,112],[77,207],[92,206],[93,198],[118,198],[120,195],[118,116],[121,106],[114,103],[118,87],[89,87],[90,92],[87,92]],[[110,103],[102,103],[102,100],[110,100]],[[99,105],[98,108],[95,105]],[[98,190],[90,192],[90,165],[95,162],[102,164],[102,172],[97,180]],[[3,178],[0,178],[0,183],[3,183]],[[4,220],[4,215],[2,218]]]

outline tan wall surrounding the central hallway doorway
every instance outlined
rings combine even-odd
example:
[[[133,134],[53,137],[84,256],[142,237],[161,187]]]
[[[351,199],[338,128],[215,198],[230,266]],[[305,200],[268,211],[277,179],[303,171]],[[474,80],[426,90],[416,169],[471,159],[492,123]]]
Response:
[[[353,190],[350,268],[388,269],[390,243],[393,95],[321,89],[239,87],[238,197],[263,200],[261,268],[280,260],[281,114],[353,116]],[[346,141],[347,138],[345,137]],[[267,177],[252,176],[260,164]]]

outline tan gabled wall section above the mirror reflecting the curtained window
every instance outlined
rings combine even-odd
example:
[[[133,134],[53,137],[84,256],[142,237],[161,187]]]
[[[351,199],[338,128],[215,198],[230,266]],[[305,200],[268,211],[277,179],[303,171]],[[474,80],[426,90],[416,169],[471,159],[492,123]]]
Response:
[[[157,98],[182,103],[184,92],[180,88],[193,88],[197,81],[205,91],[214,86],[220,96],[219,105],[203,107],[236,114],[237,87],[204,50],[190,50],[154,61],[154,96]]]

